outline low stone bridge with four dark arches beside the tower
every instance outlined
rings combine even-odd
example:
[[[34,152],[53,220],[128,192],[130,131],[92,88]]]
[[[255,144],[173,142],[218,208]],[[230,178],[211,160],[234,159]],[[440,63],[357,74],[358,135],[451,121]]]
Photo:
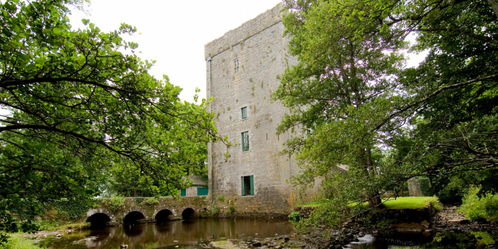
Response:
[[[120,226],[133,223],[165,222],[207,216],[207,196],[102,198],[88,210],[91,226]]]

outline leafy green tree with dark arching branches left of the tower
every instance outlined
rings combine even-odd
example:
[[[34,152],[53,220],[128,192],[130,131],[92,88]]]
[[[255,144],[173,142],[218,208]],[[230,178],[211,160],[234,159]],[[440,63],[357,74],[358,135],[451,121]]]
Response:
[[[49,200],[98,194],[113,167],[174,195],[197,167],[188,161],[202,160],[192,143],[216,139],[212,114],[148,74],[153,61],[121,37],[134,27],[104,33],[83,19],[88,28],[72,30],[66,5],[80,3],[0,4],[0,108],[11,111],[0,116],[0,230],[20,203],[38,214]]]

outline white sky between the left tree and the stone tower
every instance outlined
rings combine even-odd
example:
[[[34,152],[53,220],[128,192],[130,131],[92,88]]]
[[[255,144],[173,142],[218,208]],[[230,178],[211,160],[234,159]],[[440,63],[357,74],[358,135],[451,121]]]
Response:
[[[193,102],[195,88],[206,98],[204,44],[237,28],[281,0],[91,0],[84,13],[73,10],[73,28],[90,19],[104,32],[125,22],[137,32],[126,40],[138,43],[142,60],[156,60],[149,71],[157,79],[165,74],[183,88],[182,100]],[[140,33],[140,34],[139,34]]]

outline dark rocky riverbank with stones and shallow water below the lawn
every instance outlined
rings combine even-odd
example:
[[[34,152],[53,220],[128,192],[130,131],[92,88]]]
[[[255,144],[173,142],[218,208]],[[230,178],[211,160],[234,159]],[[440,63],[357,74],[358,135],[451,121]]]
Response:
[[[456,212],[457,208],[454,205],[445,205],[443,210],[436,213],[428,223],[389,224],[377,228],[347,222],[335,229],[321,227],[304,232],[301,237],[296,237],[300,238],[297,245],[304,242],[305,248],[309,249],[360,248],[355,245],[383,240],[405,246],[417,245],[417,243],[441,243],[441,245],[435,245],[435,248],[448,248],[448,246],[458,248],[459,243],[465,243],[461,248],[498,248],[496,246],[498,245],[498,222],[468,220],[462,213]],[[402,241],[403,238],[410,237],[415,238],[414,241]],[[436,242],[436,240],[439,241]]]

